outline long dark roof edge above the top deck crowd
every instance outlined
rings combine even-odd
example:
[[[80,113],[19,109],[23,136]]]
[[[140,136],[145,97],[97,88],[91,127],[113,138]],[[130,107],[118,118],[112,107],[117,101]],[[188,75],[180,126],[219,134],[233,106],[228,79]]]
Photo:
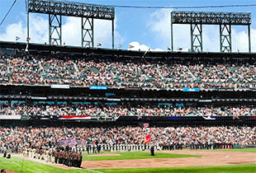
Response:
[[[18,49],[24,51],[26,43],[15,43],[0,41],[0,49]],[[127,49],[102,49],[102,48],[82,48],[75,46],[58,46],[49,44],[28,44],[30,53],[47,53],[47,54],[86,54],[92,57],[116,57],[116,58],[145,58],[145,59],[190,59],[190,58],[234,58],[238,60],[256,59],[255,53],[217,53],[217,52],[172,52],[172,51],[134,51]]]

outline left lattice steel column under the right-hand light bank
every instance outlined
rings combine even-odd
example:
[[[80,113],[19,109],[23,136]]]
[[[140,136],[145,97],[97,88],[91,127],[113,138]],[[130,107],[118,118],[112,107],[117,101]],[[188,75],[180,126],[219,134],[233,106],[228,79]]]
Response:
[[[191,49],[192,52],[202,52],[202,27],[201,24],[191,24]]]

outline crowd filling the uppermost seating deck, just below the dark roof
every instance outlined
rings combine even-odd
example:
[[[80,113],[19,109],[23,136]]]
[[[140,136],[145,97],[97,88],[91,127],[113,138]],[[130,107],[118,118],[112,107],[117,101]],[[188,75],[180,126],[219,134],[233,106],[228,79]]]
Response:
[[[2,83],[158,89],[256,88],[254,63],[210,64],[2,56],[0,65]]]

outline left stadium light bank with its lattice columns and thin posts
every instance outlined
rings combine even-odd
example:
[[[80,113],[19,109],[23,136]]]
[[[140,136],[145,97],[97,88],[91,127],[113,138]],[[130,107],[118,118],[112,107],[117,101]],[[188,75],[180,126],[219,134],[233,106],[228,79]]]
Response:
[[[81,2],[64,2],[56,0],[26,0],[27,1],[27,38],[29,38],[29,13],[49,15],[49,44],[62,44],[62,16],[82,18],[82,47],[93,47],[93,20],[109,20],[112,22],[112,48],[114,49],[115,8]],[[55,37],[53,36],[55,35]]]

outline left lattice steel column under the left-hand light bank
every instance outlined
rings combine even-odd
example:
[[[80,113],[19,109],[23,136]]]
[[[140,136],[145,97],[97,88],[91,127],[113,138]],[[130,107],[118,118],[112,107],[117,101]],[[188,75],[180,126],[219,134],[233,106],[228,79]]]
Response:
[[[61,15],[49,15],[49,44],[62,44]]]

